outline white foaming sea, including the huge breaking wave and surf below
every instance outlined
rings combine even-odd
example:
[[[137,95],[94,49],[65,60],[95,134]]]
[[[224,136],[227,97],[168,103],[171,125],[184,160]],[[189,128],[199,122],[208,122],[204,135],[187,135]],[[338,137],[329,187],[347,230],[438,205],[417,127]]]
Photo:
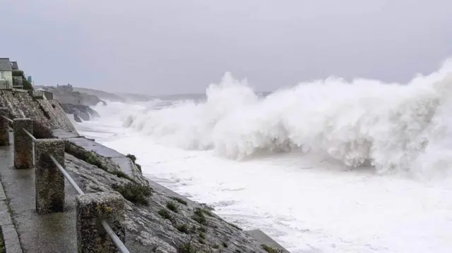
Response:
[[[404,84],[302,82],[261,96],[108,102],[88,137],[290,252],[452,252],[452,62]]]

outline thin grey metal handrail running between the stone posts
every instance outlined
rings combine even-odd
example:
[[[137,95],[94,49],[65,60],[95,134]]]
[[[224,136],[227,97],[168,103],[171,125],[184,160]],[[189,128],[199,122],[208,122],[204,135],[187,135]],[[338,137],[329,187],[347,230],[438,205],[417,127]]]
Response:
[[[3,117],[4,119],[6,119],[6,121],[9,121],[11,123],[14,122],[13,120],[11,120],[11,118],[7,118],[6,116],[3,116],[3,115],[0,115],[0,116]],[[27,134],[31,138],[31,140],[33,142],[36,141],[36,137],[33,136],[30,132],[28,132],[24,128],[22,128],[22,130],[25,132],[25,134]],[[85,195],[85,192],[83,192],[83,190],[81,190],[81,188],[78,187],[77,183],[72,179],[71,175],[69,175],[69,173],[67,173],[66,169],[63,166],[61,166],[61,164],[59,164],[57,159],[55,159],[55,157],[52,154],[49,154],[49,157],[52,160],[52,162],[55,164],[55,166],[57,166],[59,171],[64,175],[64,178],[66,178],[66,180],[68,180],[69,183],[72,185],[72,187],[76,190],[78,195]],[[112,228],[108,225],[107,221],[102,219],[101,224],[102,224],[102,227],[105,229],[105,232],[107,232],[107,235],[109,235],[109,237],[112,238],[114,245],[116,245],[118,247],[119,251],[121,253],[130,253],[129,249],[126,248],[126,245],[124,245],[124,243],[121,241],[121,239],[119,239],[117,234],[114,233]]]

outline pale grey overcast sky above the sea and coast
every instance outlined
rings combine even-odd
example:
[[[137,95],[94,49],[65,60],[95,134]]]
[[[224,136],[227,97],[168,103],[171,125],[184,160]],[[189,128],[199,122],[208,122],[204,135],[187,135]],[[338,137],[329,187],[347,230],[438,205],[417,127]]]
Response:
[[[451,0],[0,1],[0,56],[35,85],[195,93],[226,71],[260,91],[406,82],[452,56]]]

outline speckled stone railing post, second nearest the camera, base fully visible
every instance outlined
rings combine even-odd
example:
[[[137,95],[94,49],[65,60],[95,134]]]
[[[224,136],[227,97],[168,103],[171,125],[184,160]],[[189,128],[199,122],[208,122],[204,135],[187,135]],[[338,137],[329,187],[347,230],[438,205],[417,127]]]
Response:
[[[30,137],[28,137],[30,139]],[[64,209],[64,175],[49,155],[64,167],[64,140],[37,139],[35,142],[35,201],[37,214]]]

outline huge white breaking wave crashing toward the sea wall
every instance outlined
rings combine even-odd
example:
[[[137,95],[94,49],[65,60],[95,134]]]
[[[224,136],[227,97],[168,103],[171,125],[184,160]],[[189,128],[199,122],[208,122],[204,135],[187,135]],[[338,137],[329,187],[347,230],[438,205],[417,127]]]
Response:
[[[452,62],[408,84],[327,78],[260,97],[226,73],[206,101],[143,104],[124,126],[184,149],[243,159],[258,152],[324,152],[379,172],[443,170],[452,164]],[[452,74],[452,73],[451,73]]]

